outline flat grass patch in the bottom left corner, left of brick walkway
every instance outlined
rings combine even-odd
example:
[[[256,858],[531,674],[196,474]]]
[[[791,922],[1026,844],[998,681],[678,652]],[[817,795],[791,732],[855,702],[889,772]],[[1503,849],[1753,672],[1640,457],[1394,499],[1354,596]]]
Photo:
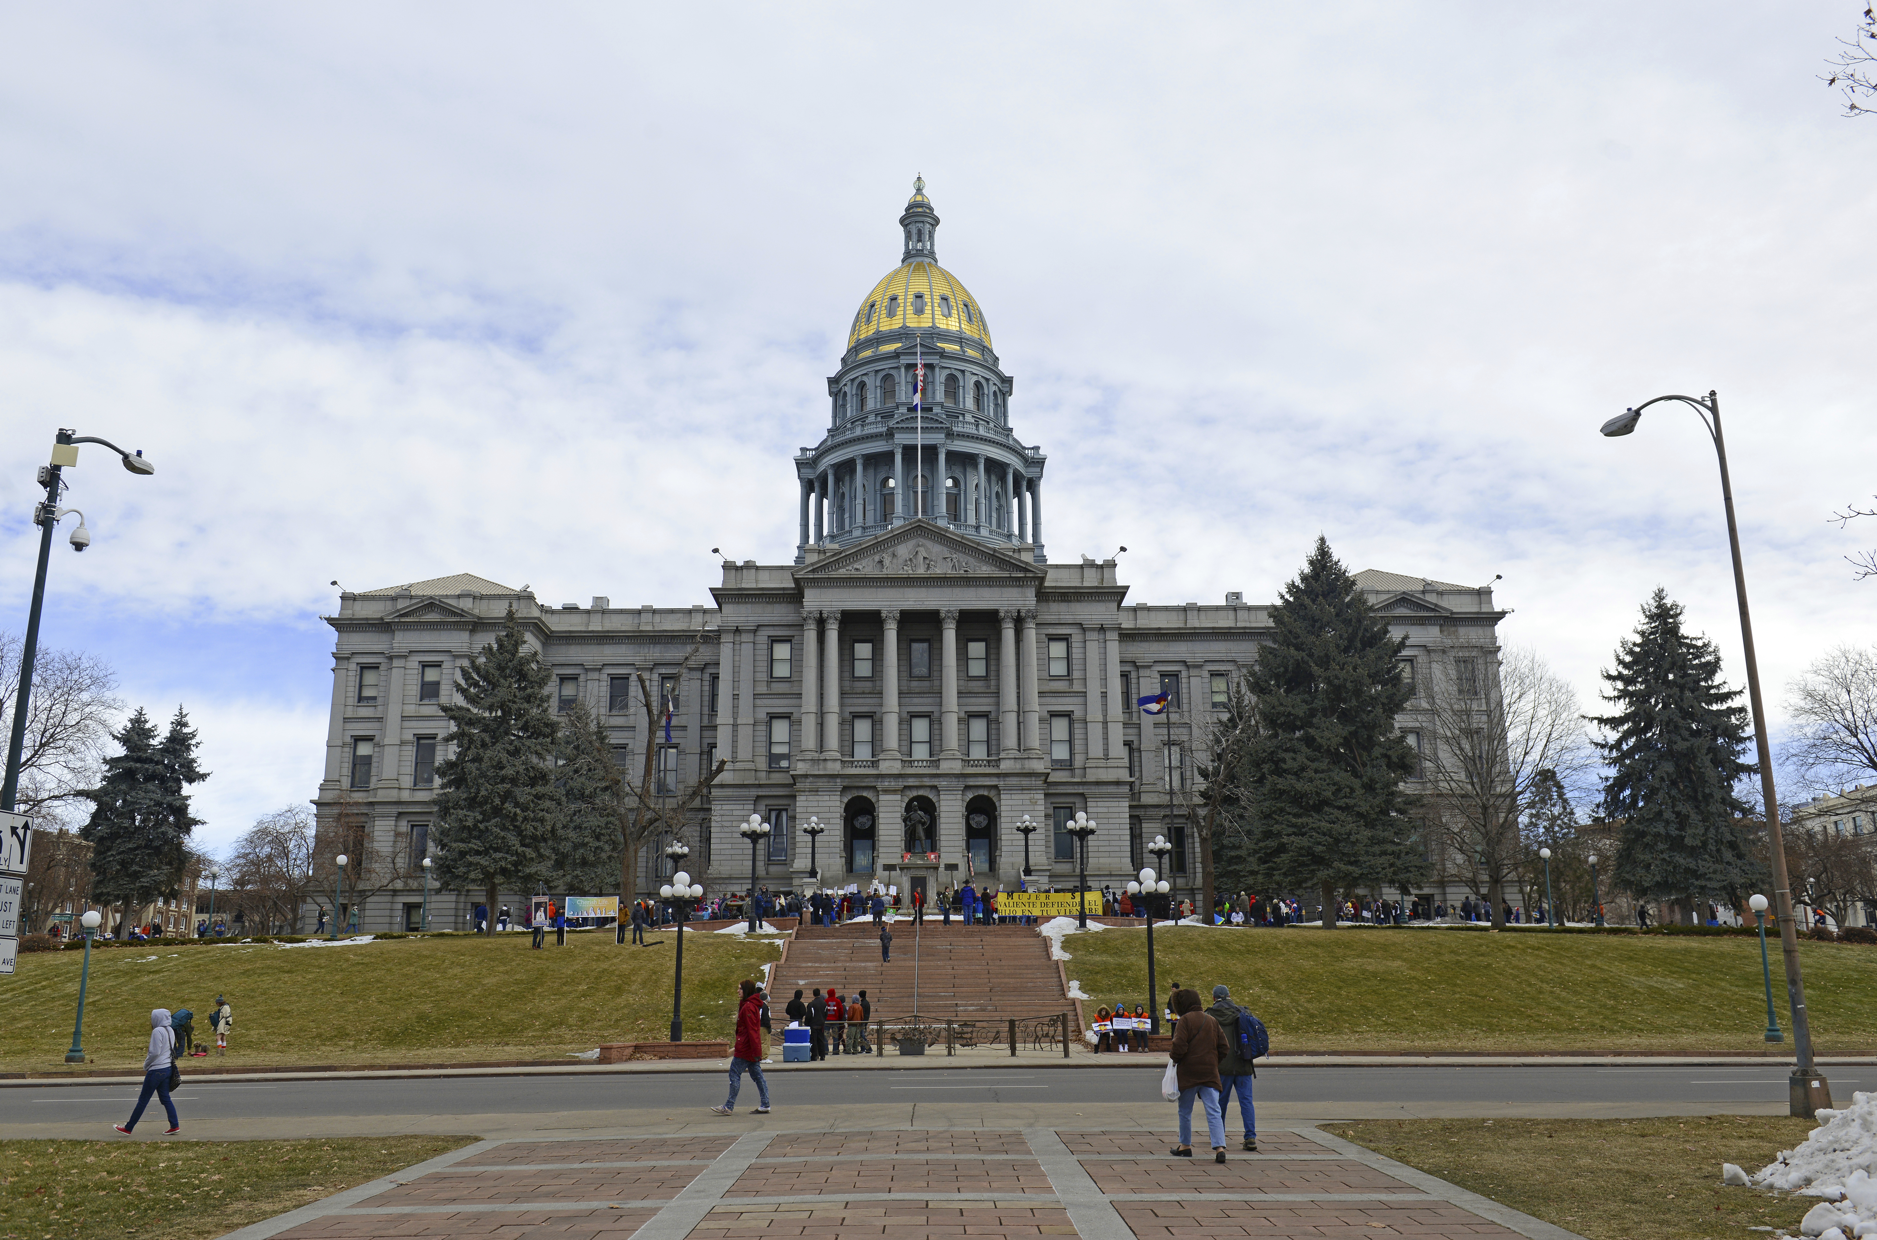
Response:
[[[220,1236],[475,1137],[114,1141],[0,1141],[0,1236]]]

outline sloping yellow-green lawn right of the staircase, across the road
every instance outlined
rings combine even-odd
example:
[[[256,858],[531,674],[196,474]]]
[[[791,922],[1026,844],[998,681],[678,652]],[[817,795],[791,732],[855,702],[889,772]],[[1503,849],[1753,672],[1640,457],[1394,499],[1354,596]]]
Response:
[[[1096,1000],[1083,1002],[1091,1017],[1096,1004],[1147,1002],[1145,929],[1070,934],[1062,949],[1074,957],[1068,975]],[[1868,1054],[1877,947],[1802,942],[1798,951],[1817,1051]],[[1751,938],[1156,927],[1154,959],[1162,1002],[1169,981],[1207,1004],[1226,983],[1280,1052],[1768,1049]],[[1772,968],[1789,1049],[1778,955]]]

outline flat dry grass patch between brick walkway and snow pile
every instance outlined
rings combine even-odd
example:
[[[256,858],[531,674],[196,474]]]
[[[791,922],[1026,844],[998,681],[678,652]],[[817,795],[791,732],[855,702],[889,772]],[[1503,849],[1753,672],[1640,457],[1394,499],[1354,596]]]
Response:
[[[1158,934],[1156,934],[1158,938]],[[1817,1197],[1721,1184],[1817,1127],[1787,1116],[1687,1120],[1368,1120],[1323,1131],[1524,1210],[1586,1240],[1798,1234]]]

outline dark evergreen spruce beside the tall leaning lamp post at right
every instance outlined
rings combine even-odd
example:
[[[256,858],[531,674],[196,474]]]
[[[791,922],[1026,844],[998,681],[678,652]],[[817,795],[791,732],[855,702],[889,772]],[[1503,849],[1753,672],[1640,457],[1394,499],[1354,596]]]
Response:
[[[1742,818],[1734,784],[1759,773],[1746,760],[1747,711],[1721,683],[1721,653],[1682,632],[1682,608],[1657,587],[1635,638],[1616,647],[1603,673],[1614,715],[1592,718],[1610,775],[1603,814],[1622,820],[1614,878],[1639,897],[1676,899],[1686,915],[1708,899],[1740,906],[1766,880]]]

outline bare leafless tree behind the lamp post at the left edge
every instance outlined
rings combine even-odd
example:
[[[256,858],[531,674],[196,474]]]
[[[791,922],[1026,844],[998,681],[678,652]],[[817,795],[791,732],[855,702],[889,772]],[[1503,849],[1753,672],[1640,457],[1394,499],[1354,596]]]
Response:
[[[0,632],[0,726],[11,728],[19,696],[21,640]],[[114,696],[116,673],[81,651],[39,651],[26,703],[26,745],[19,764],[15,809],[43,827],[73,825],[68,807],[81,788],[98,784],[111,724],[124,713]],[[79,820],[90,810],[79,814]]]

